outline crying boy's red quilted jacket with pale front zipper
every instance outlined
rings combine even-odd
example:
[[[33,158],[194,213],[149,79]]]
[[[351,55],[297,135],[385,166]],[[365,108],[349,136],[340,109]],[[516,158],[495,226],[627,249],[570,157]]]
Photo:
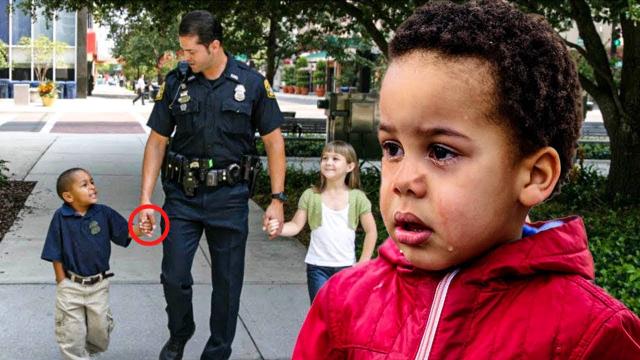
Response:
[[[640,359],[640,319],[594,285],[582,220],[563,222],[457,273],[414,268],[387,239],[320,290],[293,358]]]

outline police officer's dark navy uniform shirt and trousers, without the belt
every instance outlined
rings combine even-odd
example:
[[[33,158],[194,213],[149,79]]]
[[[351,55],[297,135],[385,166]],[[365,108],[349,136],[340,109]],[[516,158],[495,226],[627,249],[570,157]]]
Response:
[[[202,74],[190,74],[184,80],[174,70],[164,86],[147,125],[160,135],[173,134],[172,152],[189,159],[212,159],[214,168],[239,164],[242,155],[255,154],[256,131],[266,135],[283,121],[269,83],[229,54],[223,74],[214,81]],[[195,330],[191,266],[204,232],[213,291],[211,337],[202,359],[228,358],[244,277],[248,186],[244,182],[218,187],[201,184],[192,197],[172,181],[164,181],[163,189],[163,208],[171,226],[163,242],[161,281],[171,337],[186,341]],[[163,231],[165,225],[163,221]]]

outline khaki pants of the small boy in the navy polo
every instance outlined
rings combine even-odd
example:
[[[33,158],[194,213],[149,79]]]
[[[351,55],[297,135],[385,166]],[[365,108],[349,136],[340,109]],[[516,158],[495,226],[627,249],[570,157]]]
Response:
[[[56,339],[66,360],[86,360],[107,350],[113,318],[109,279],[81,285],[64,279],[56,287]]]

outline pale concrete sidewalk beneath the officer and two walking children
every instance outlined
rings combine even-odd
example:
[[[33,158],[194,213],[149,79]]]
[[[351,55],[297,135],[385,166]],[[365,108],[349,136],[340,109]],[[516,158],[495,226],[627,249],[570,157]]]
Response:
[[[0,158],[12,176],[37,181],[20,219],[0,242],[0,360],[59,359],[54,338],[55,284],[50,263],[40,260],[51,216],[61,202],[57,175],[86,167],[100,202],[128,217],[136,207],[146,134],[74,135],[0,132]],[[154,202],[162,204],[158,187]],[[250,203],[245,285],[232,359],[288,359],[309,307],[304,247],[293,239],[269,241],[261,231],[263,211]],[[185,359],[199,359],[208,338],[210,259],[201,242],[192,273],[196,333]],[[116,321],[109,350],[99,359],[157,359],[169,336],[160,284],[160,246],[113,246],[116,274],[111,305]]]

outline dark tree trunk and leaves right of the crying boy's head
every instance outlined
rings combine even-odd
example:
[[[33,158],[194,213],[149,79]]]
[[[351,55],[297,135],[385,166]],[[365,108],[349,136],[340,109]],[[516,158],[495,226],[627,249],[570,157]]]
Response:
[[[544,15],[559,30],[570,24],[578,28],[582,43],[566,43],[577,53],[580,83],[598,103],[609,134],[611,166],[607,191],[611,199],[623,196],[632,203],[640,203],[640,5],[636,0],[517,3]],[[622,29],[621,69],[616,69],[617,59],[609,56],[596,22]]]

